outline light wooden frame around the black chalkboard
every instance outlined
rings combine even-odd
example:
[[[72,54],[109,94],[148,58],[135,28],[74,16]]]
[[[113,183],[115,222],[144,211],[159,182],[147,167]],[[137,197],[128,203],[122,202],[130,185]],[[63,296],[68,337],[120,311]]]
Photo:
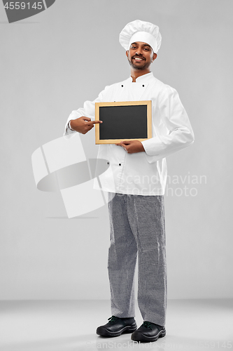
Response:
[[[151,101],[96,102],[96,144],[116,144],[124,140],[152,137]]]

